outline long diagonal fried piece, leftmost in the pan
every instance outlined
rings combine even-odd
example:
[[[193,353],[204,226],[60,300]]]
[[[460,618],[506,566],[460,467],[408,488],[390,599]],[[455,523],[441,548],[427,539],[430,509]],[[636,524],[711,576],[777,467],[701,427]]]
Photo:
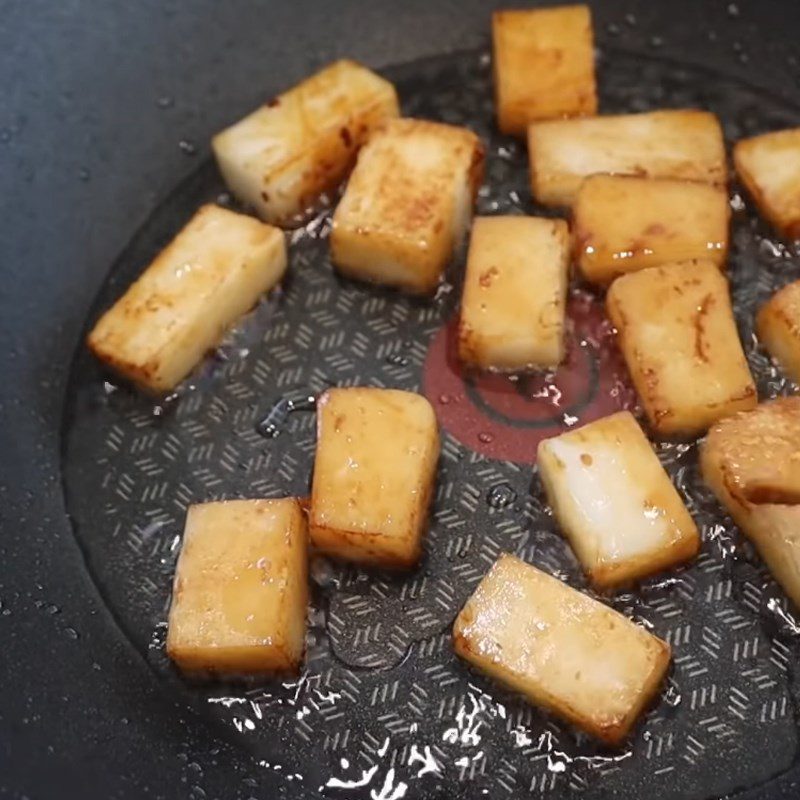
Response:
[[[182,381],[286,270],[283,232],[203,206],[89,334],[89,349],[153,393]]]

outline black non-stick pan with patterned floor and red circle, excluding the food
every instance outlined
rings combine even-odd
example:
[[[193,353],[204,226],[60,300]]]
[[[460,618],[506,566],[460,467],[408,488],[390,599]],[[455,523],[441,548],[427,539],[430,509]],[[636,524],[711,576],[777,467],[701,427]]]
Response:
[[[232,202],[210,135],[336,56],[394,80],[406,113],[481,135],[481,213],[537,211],[524,148],[493,125],[492,5],[0,3],[0,796],[800,796],[797,609],[703,489],[693,445],[659,455],[702,526],[701,556],[611,601],[675,653],[627,745],[598,749],[451,652],[452,619],[500,551],[584,585],[532,453],[635,402],[591,293],[572,292],[554,388],[464,376],[449,324],[459,262],[428,303],[341,280],[323,213],[293,235],[282,291],[177,397],[109,381],[82,348],[197,205]],[[605,111],[701,105],[729,140],[800,124],[793,0],[593,11]],[[761,396],[790,393],[752,316],[800,277],[800,256],[731,191],[740,332]],[[352,384],[420,390],[436,407],[421,567],[315,560],[299,679],[186,682],[163,651],[186,504],[304,494],[307,398]]]

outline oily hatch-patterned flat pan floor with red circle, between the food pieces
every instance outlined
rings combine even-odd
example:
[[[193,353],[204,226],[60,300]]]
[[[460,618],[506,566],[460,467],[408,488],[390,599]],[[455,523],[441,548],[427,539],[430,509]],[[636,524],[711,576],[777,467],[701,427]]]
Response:
[[[702,105],[720,115],[729,139],[800,122],[797,106],[777,94],[689,66],[660,48],[643,55],[609,41],[600,68],[606,111]],[[537,210],[524,150],[494,132],[483,49],[410,61],[386,74],[397,82],[405,113],[467,124],[487,143],[480,213]],[[192,148],[184,140],[183,151]],[[191,174],[154,205],[88,317],[79,314],[72,330],[118,296],[207,200],[230,202],[213,165],[195,156]],[[733,205],[730,274],[748,358],[762,397],[788,393],[792,387],[755,347],[752,318],[776,287],[800,277],[800,260],[744,210],[735,187]],[[628,748],[592,748],[455,659],[448,635],[453,616],[499,551],[583,585],[546,513],[538,479],[532,481],[528,454],[542,436],[631,407],[633,395],[590,293],[572,293],[569,365],[550,382],[465,377],[449,357],[457,269],[433,303],[409,301],[339,280],[327,260],[326,233],[323,213],[293,236],[284,289],[239,326],[177,398],[154,405],[108,382],[77,352],[63,439],[55,442],[60,469],[49,480],[56,493],[63,480],[65,510],[85,559],[70,565],[74,580],[88,571],[100,599],[81,617],[52,599],[48,583],[28,590],[41,652],[50,637],[54,654],[64,645],[79,649],[84,671],[75,670],[72,680],[100,685],[106,678],[88,702],[98,716],[113,703],[118,715],[108,738],[87,744],[75,766],[103,776],[115,750],[124,758],[136,748],[171,750],[179,743],[172,772],[161,762],[156,774],[139,773],[154,795],[705,798],[746,787],[753,787],[753,796],[791,792],[800,688],[792,610],[700,485],[694,447],[663,446],[659,455],[702,524],[700,559],[614,600],[669,638],[676,654],[664,696]],[[45,378],[37,388],[46,388]],[[306,492],[313,414],[287,406],[296,402],[302,409],[304,399],[332,384],[417,389],[434,403],[445,444],[424,563],[410,577],[387,578],[314,562],[309,658],[300,680],[244,688],[188,685],[163,654],[185,506],[215,497]],[[19,435],[15,453],[24,449]],[[28,487],[33,497],[37,489]],[[45,514],[52,512],[31,506],[31,513],[47,525]],[[3,581],[2,592],[14,586]],[[73,591],[85,589],[81,584]],[[17,619],[23,604],[2,592],[7,620]],[[92,610],[103,615],[113,648],[96,633],[86,636],[84,628],[97,624],[89,619]],[[115,653],[111,661],[105,647]],[[12,658],[21,670],[23,659]],[[50,670],[58,670],[46,661],[38,669],[46,689]],[[70,709],[70,691],[62,691],[63,708],[55,712],[31,694],[27,717],[15,717],[9,730],[16,737],[30,724],[22,719],[36,724],[50,715],[58,730],[39,741],[64,737],[86,712],[87,700]],[[140,742],[139,731],[128,729],[139,728],[148,715],[157,716],[159,736]],[[4,746],[6,756],[12,746]],[[58,756],[44,750],[43,764],[48,761],[56,764]],[[147,763],[146,757],[137,763]],[[21,795],[33,785],[31,772],[14,772],[10,755],[0,764],[9,765],[0,770],[3,791]],[[77,780],[78,769],[63,774]],[[229,776],[227,785],[221,774]],[[5,775],[22,778],[6,787],[2,781],[11,777]],[[98,779],[98,796],[112,796],[103,793],[102,781],[122,786],[113,790],[119,796],[142,794],[133,780],[126,786],[112,775]]]

